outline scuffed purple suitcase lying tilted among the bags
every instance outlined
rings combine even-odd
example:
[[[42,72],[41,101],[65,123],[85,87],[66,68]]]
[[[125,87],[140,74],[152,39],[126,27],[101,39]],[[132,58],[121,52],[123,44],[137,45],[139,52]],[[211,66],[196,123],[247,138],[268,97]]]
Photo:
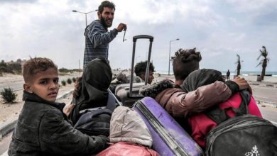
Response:
[[[145,121],[153,138],[153,150],[160,155],[204,155],[188,133],[154,99],[145,97],[133,109]]]

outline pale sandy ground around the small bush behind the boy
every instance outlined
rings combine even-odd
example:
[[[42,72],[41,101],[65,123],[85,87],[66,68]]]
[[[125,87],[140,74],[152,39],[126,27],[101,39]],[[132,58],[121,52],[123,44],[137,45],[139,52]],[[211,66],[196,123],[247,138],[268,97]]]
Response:
[[[0,83],[19,82],[22,80],[23,78],[21,75],[14,74],[4,74],[4,77],[0,77]],[[63,95],[72,89],[74,89],[74,84],[66,84],[66,86],[61,86],[58,96]],[[21,112],[21,108],[24,104],[24,101],[22,101],[23,90],[15,92],[18,96],[13,104],[5,104],[0,96],[0,126],[4,125],[5,123],[9,123],[9,121],[16,120],[19,113]],[[58,102],[64,102],[65,104],[68,104],[70,103],[71,98],[72,96],[67,96],[65,99],[60,99]]]

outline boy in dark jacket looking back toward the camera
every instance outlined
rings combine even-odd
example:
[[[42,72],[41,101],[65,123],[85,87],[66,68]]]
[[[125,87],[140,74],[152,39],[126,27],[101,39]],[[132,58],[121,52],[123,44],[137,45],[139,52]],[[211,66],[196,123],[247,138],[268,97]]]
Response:
[[[59,91],[58,68],[47,58],[23,64],[25,104],[13,132],[9,155],[91,155],[107,147],[105,136],[75,130],[55,103]]]

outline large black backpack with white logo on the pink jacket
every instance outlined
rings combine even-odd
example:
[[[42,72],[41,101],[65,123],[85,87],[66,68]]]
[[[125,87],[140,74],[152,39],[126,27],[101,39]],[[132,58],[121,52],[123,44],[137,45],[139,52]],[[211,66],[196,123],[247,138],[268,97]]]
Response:
[[[206,112],[217,127],[206,138],[207,156],[277,156],[277,127],[270,121],[249,115],[250,94],[241,91],[239,109],[231,108],[236,116],[229,118],[226,111],[214,108]],[[216,117],[215,117],[216,116]]]

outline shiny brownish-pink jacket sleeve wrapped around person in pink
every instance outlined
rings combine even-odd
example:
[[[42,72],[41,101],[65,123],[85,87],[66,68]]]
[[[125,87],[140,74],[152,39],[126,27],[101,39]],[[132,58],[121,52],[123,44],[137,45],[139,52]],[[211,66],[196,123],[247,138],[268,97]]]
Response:
[[[173,116],[176,117],[188,116],[227,101],[230,96],[232,96],[232,91],[227,84],[217,81],[188,93],[176,92],[170,97],[165,109],[171,110]]]

